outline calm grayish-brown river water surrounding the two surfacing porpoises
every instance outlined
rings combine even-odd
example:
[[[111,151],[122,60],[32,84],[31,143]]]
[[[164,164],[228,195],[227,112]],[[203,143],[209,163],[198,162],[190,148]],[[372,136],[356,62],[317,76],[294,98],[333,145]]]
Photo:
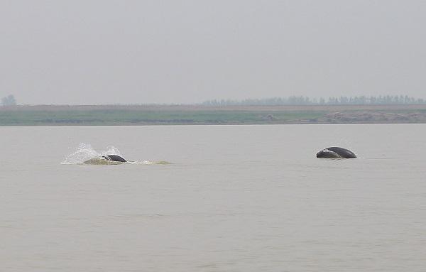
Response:
[[[1,127],[0,271],[424,271],[425,138],[419,124]],[[170,164],[64,164],[81,143]],[[327,146],[359,159],[316,159]]]

